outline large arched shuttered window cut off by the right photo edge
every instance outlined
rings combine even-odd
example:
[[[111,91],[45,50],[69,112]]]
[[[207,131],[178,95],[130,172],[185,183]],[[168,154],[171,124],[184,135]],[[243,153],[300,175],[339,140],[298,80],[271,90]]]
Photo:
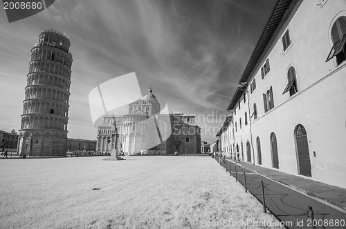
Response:
[[[346,58],[346,18],[339,17],[331,27],[331,41],[333,47],[331,48],[326,62],[333,57],[336,57],[336,63],[339,65],[343,63]]]

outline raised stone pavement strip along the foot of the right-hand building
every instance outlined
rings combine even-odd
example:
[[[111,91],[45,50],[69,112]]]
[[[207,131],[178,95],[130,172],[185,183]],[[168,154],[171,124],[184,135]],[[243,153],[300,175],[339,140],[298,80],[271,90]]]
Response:
[[[346,210],[346,188],[331,186],[327,183],[305,179],[303,177],[290,175],[270,168],[256,166],[244,161],[235,161],[233,159],[227,160],[236,163],[238,166],[257,172],[264,177],[284,183],[287,186],[291,186],[291,188],[305,192],[307,195],[317,197]]]

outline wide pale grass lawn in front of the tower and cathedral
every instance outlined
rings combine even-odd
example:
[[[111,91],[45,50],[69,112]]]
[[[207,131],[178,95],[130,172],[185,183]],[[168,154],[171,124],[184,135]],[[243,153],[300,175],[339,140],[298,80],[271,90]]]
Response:
[[[1,159],[0,228],[260,228],[235,225],[278,222],[210,157],[103,158]]]

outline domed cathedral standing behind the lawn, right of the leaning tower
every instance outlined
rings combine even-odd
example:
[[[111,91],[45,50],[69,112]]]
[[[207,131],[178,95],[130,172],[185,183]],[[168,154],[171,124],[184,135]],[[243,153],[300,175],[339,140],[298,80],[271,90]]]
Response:
[[[163,110],[149,88],[147,95],[129,104],[127,115],[107,113],[98,126],[96,150],[116,149],[125,155],[201,153],[201,128],[195,115]]]

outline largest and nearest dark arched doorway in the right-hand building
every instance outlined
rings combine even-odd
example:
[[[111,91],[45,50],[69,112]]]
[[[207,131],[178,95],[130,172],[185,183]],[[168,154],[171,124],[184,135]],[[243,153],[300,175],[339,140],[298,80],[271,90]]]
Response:
[[[311,177],[311,163],[307,131],[298,124],[294,129],[296,153],[298,155],[298,174]]]

